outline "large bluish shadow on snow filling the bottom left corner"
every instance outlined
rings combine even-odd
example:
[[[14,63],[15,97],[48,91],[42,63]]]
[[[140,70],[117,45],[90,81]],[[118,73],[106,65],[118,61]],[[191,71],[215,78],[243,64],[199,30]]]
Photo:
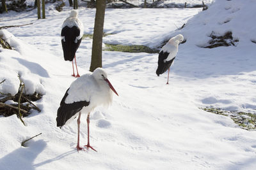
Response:
[[[0,169],[26,169],[33,170],[33,162],[44,150],[46,142],[42,139],[29,142],[28,147],[18,148],[0,159]]]

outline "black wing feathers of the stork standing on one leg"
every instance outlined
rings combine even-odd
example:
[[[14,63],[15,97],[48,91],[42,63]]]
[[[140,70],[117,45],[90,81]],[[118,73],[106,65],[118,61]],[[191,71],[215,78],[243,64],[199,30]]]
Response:
[[[157,67],[157,70],[156,70],[157,76],[159,76],[159,74],[163,74],[172,65],[172,62],[175,59],[175,57],[173,57],[172,60],[169,60],[169,61],[166,60],[164,62],[164,59],[167,59],[168,55],[169,55],[168,52],[161,51],[159,53],[159,56],[158,56],[158,67]]]

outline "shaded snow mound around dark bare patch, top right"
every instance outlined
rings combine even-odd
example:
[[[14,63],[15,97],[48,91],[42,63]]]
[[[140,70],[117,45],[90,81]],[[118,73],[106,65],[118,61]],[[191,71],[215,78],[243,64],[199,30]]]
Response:
[[[252,43],[251,39],[256,38],[256,25],[253,24],[255,21],[251,11],[255,8],[252,0],[216,0],[208,10],[191,18],[178,32],[185,36],[188,44],[197,46],[206,46],[211,41],[212,31],[218,35],[232,32],[233,38],[239,40],[238,45]]]

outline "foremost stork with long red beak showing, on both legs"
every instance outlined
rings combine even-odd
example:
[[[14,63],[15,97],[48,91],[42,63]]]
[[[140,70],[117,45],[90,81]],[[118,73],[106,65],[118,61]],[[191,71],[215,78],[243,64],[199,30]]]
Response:
[[[107,73],[102,68],[97,68],[93,73],[87,73],[77,78],[68,88],[57,111],[57,127],[62,127],[77,117],[77,152],[83,150],[79,146],[80,117],[81,113],[87,115],[88,148],[96,151],[90,146],[89,124],[90,112],[100,104],[108,105],[112,103],[112,91],[118,96],[116,90],[108,80]]]

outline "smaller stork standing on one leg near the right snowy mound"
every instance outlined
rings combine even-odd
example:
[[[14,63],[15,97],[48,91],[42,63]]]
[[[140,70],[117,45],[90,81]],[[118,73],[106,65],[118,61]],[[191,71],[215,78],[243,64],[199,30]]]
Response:
[[[181,43],[183,39],[184,37],[182,34],[179,34],[171,38],[160,50],[156,74],[159,76],[159,74],[163,74],[168,69],[168,78],[166,84],[169,84],[170,66],[177,55],[179,43]]]

